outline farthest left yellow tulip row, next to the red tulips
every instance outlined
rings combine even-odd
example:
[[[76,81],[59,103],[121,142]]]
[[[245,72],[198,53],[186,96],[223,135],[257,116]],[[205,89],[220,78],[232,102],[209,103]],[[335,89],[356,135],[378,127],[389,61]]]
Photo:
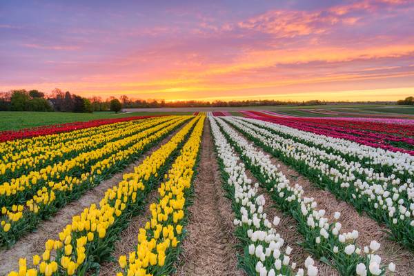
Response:
[[[144,121],[146,119],[139,119],[135,121],[123,121],[114,124],[106,124],[102,126],[95,126],[92,128],[81,128],[79,130],[72,130],[70,132],[61,132],[52,135],[41,135],[38,137],[31,137],[26,139],[16,139],[13,141],[6,141],[0,143],[0,163],[6,163],[8,161],[17,160],[16,154],[24,151],[26,152],[23,157],[31,155],[39,155],[40,153],[48,150],[54,150],[58,148],[59,144],[66,141],[76,141],[83,137],[89,137],[95,135],[95,133],[105,132],[114,128],[124,128],[134,124],[132,122]]]

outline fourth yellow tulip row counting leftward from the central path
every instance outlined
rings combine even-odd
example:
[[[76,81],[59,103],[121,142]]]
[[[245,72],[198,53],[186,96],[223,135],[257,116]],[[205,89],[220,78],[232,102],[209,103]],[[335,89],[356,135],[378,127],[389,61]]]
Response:
[[[10,183],[5,182],[0,186],[0,206],[3,207],[5,204],[8,205],[5,202],[10,203],[16,201],[17,199],[21,199],[19,195],[25,195],[27,192],[26,190],[33,188],[33,186],[43,186],[43,184],[46,184],[47,181],[50,181],[52,179],[63,179],[66,174],[70,173],[71,170],[84,170],[86,166],[90,164],[90,162],[99,161],[99,159],[112,154],[112,152],[121,150],[126,146],[134,143],[138,139],[147,137],[148,135],[157,132],[158,130],[168,126],[169,124],[172,124],[179,119],[179,117],[175,117],[175,119],[166,121],[162,124],[157,124],[156,126],[142,130],[135,135],[127,136],[124,139],[110,142],[102,148],[91,150],[89,152],[83,152],[81,155],[78,155],[75,158],[63,161],[63,163],[58,163],[53,166],[42,168],[41,170],[29,172],[28,175],[22,175],[21,177],[12,179]],[[148,122],[148,124],[156,124],[156,120]],[[148,124],[146,127],[148,127]],[[120,131],[124,132],[124,130]],[[1,201],[2,199],[3,202]]]

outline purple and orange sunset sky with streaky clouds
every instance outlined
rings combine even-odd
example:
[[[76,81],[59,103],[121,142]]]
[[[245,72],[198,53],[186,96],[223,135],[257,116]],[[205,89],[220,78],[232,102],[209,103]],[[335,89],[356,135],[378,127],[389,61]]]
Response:
[[[414,1],[0,1],[0,91],[167,101],[414,94]]]

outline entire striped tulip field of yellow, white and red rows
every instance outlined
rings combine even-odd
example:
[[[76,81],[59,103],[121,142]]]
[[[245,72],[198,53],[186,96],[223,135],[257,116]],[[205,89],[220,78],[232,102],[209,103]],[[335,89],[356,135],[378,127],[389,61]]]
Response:
[[[242,114],[0,132],[0,275],[414,275],[414,121]]]

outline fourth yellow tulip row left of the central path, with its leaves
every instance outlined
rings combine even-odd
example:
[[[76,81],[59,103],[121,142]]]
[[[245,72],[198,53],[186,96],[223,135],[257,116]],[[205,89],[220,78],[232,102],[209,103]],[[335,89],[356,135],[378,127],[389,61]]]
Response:
[[[82,152],[77,157],[52,164],[41,170],[33,170],[28,175],[21,175],[21,177],[11,179],[10,183],[4,182],[0,185],[0,207],[11,207],[12,204],[23,203],[32,197],[39,188],[46,186],[49,181],[59,181],[66,176],[77,176],[83,172],[88,172],[90,166],[97,161],[105,159],[119,150],[128,148],[140,139],[173,124],[179,119],[179,117],[175,117],[161,124],[158,124],[157,120],[148,121],[139,126],[141,131],[138,132],[136,130],[119,130],[121,133],[132,132],[135,134],[130,136],[126,135],[126,137],[109,142],[101,148],[89,152]]]

